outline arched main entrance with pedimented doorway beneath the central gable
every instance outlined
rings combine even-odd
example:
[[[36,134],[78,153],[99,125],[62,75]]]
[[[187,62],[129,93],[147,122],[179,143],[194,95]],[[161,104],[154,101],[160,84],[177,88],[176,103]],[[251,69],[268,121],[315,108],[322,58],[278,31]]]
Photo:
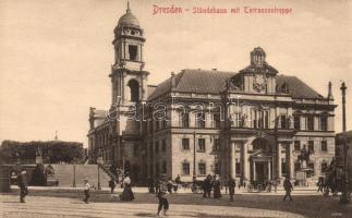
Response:
[[[266,138],[256,138],[248,150],[251,181],[266,182],[272,179],[272,146]]]

